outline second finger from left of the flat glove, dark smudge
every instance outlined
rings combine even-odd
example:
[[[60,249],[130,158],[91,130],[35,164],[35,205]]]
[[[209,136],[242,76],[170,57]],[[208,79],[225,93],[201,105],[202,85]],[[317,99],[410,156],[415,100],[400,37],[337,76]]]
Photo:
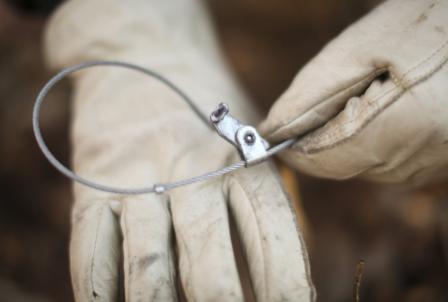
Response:
[[[177,301],[177,261],[165,196],[123,198],[126,301]]]

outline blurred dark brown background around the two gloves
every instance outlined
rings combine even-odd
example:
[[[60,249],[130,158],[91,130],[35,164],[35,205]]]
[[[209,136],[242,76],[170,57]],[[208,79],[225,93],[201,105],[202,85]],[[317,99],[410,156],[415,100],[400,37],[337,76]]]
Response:
[[[43,158],[31,111],[51,77],[40,37],[58,1],[0,0],[0,301],[73,301],[69,181]],[[228,60],[267,112],[294,74],[378,0],[208,0]],[[46,99],[42,131],[69,162],[69,85]],[[298,175],[318,301],[448,301],[448,183],[420,188]],[[304,225],[305,226],[305,225]]]

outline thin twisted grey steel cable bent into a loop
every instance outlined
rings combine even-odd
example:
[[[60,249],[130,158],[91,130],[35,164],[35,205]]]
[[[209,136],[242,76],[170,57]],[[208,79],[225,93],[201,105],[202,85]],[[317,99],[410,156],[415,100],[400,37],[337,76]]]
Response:
[[[145,188],[136,188],[136,189],[127,189],[127,188],[117,188],[117,187],[112,187],[112,186],[105,186],[105,185],[101,185],[98,184],[96,182],[93,181],[89,181],[88,179],[78,176],[77,174],[73,173],[73,171],[71,171],[69,168],[65,167],[63,164],[60,163],[59,160],[56,159],[56,157],[54,157],[54,155],[52,154],[52,152],[48,149],[47,145],[45,144],[45,142],[43,141],[43,137],[42,134],[40,132],[40,127],[39,127],[39,111],[40,111],[40,107],[42,105],[43,99],[45,97],[45,95],[47,95],[48,91],[57,83],[59,82],[62,78],[65,78],[66,76],[68,76],[71,73],[74,73],[75,71],[78,71],[80,69],[85,69],[88,67],[93,67],[93,66],[119,66],[119,67],[125,67],[125,68],[129,68],[129,69],[134,69],[137,71],[140,71],[142,73],[145,73],[147,75],[150,75],[153,78],[156,78],[157,80],[163,82],[164,84],[166,84],[168,87],[170,87],[173,91],[175,91],[179,96],[181,96],[182,99],[185,100],[185,102],[187,102],[187,104],[190,105],[190,107],[193,109],[193,111],[199,116],[199,118],[204,121],[211,129],[213,129],[213,125],[211,125],[211,121],[207,118],[207,116],[205,114],[203,114],[201,112],[201,110],[193,103],[193,101],[187,96],[185,95],[185,93],[183,91],[181,91],[181,89],[179,89],[176,85],[174,85],[172,82],[170,82],[168,79],[164,78],[162,75],[149,70],[149,69],[145,69],[142,68],[140,66],[137,65],[133,65],[133,64],[129,64],[129,63],[124,63],[124,62],[118,62],[118,61],[91,61],[91,62],[86,62],[86,63],[82,63],[82,64],[78,64],[75,66],[72,66],[68,69],[65,69],[63,71],[61,71],[60,73],[58,73],[54,78],[52,78],[42,89],[42,91],[40,91],[37,99],[36,99],[36,103],[34,104],[34,110],[33,110],[33,130],[34,130],[34,136],[36,137],[36,141],[40,147],[40,149],[43,152],[43,155],[45,155],[45,157],[47,158],[47,160],[62,174],[64,174],[66,177],[69,177],[70,179],[74,180],[74,181],[78,181],[79,183],[82,183],[86,186],[89,186],[91,188],[94,189],[98,189],[98,190],[102,190],[102,191],[107,191],[107,192],[111,192],[111,193],[118,193],[118,194],[145,194],[145,193],[152,193],[152,192],[156,192],[157,190],[162,190],[160,192],[163,192],[164,190],[169,190],[172,188],[177,188],[180,186],[186,186],[186,185],[190,185],[193,184],[195,182],[198,181],[203,181],[203,180],[207,180],[207,179],[211,179],[214,177],[218,177],[220,175],[224,175],[225,173],[229,173],[231,171],[234,171],[238,168],[241,167],[245,167],[246,166],[246,161],[242,160],[239,163],[236,164],[232,164],[228,167],[225,168],[221,168],[219,170],[210,172],[210,173],[206,173],[203,175],[199,175],[196,177],[192,177],[189,179],[185,179],[182,181],[176,181],[176,182],[171,182],[171,183],[166,183],[166,184],[155,184],[153,187],[145,187]],[[282,143],[280,143],[279,145],[277,145],[276,147],[273,147],[269,150],[267,150],[267,155],[270,156],[290,145],[292,145],[295,141],[297,140],[297,138],[291,138],[289,140],[286,140]],[[157,191],[156,193],[159,193],[159,191]]]

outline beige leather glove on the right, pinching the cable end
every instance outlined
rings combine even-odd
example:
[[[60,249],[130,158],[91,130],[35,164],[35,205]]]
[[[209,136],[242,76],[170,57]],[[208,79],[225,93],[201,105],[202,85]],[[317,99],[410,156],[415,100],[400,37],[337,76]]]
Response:
[[[318,177],[447,176],[447,43],[447,1],[387,1],[297,74],[259,132],[303,135],[281,156]]]

